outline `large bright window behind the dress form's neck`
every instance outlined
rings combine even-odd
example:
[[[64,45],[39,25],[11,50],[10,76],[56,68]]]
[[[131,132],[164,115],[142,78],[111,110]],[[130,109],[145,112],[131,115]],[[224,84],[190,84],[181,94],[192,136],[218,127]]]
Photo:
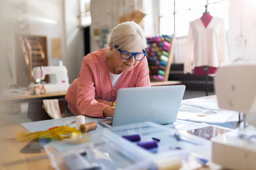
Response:
[[[189,22],[202,16],[207,1],[210,14],[223,18],[228,29],[229,0],[159,0],[160,34],[187,36]]]

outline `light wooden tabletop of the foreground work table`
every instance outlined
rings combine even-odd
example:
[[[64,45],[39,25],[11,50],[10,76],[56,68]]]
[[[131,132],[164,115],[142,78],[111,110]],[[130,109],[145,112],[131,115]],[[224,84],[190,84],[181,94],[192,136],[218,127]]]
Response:
[[[206,96],[201,98],[215,98],[215,96]],[[50,161],[45,152],[42,153],[20,153],[21,148],[23,148],[28,142],[20,142],[15,139],[17,132],[24,131],[29,132],[21,125],[11,125],[0,127],[0,170],[53,170]],[[51,148],[52,149],[52,148]],[[26,159],[32,159],[41,156],[40,160],[36,161],[26,161]],[[17,162],[12,166],[5,166],[10,162]],[[210,167],[201,167],[197,170],[221,170],[221,168],[213,163],[210,163]]]

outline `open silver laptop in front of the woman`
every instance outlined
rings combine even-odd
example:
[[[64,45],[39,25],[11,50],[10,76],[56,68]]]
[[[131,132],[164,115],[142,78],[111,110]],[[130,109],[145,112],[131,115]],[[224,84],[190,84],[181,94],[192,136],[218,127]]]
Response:
[[[185,85],[120,88],[113,119],[99,121],[105,127],[154,122],[161,125],[176,121]]]

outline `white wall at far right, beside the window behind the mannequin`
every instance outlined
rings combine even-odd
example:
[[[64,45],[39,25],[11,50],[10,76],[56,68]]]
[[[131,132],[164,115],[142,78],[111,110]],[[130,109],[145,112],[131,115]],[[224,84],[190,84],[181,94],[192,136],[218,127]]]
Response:
[[[230,0],[230,62],[256,62],[256,1]]]

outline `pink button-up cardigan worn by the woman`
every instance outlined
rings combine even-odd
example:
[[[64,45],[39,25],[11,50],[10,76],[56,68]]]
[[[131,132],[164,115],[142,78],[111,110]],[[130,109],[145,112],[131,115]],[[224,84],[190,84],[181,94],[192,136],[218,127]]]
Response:
[[[113,88],[107,63],[108,48],[92,52],[83,58],[78,79],[68,88],[65,100],[74,115],[103,118],[107,105],[96,99],[115,101],[119,88],[150,86],[148,61],[145,57],[131,71],[124,71]],[[116,103],[118,105],[118,103]]]

